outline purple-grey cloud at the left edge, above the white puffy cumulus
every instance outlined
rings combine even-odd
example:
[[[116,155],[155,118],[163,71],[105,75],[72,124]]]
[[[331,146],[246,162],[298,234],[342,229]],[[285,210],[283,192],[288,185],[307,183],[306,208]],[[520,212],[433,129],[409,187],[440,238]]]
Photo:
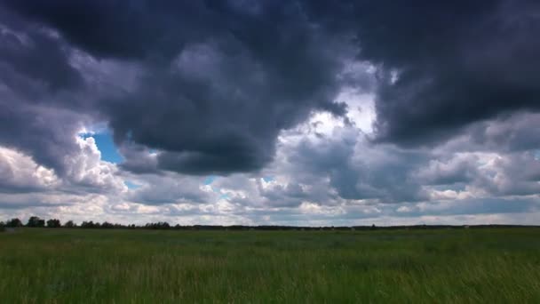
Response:
[[[63,174],[63,157],[76,150],[84,118],[56,108],[56,100],[80,89],[83,79],[54,33],[1,7],[0,18],[0,145]]]

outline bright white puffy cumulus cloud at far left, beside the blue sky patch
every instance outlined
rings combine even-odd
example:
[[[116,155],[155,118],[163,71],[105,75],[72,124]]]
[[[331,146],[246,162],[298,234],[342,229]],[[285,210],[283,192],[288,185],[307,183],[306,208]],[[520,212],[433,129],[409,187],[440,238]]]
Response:
[[[19,150],[0,147],[0,207],[17,204],[47,205],[56,196],[86,196],[90,194],[119,195],[127,190],[115,164],[101,160],[93,138],[72,137],[76,152],[60,157],[66,168],[59,176],[53,169],[37,164],[32,156]],[[10,196],[8,196],[10,195]],[[37,196],[38,198],[35,198]],[[30,197],[27,201],[26,198]],[[34,200],[34,201],[32,201]],[[56,202],[54,204],[69,204]]]

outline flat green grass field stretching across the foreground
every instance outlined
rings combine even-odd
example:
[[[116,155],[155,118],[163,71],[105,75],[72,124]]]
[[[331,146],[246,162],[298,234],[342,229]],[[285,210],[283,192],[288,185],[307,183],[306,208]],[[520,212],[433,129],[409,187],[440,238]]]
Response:
[[[540,303],[540,229],[26,228],[0,302]]]

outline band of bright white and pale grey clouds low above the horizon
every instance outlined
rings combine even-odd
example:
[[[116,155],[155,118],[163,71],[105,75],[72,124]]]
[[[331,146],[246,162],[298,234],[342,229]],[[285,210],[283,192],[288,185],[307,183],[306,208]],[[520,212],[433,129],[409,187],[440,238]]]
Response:
[[[204,176],[124,172],[101,160],[91,137],[74,139],[78,152],[65,157],[62,179],[30,157],[1,148],[0,170],[13,172],[11,185],[41,192],[4,193],[0,215],[314,226],[536,219],[521,214],[535,213],[530,196],[540,191],[540,162],[531,151],[404,150],[373,144],[366,136],[357,124],[314,113],[282,132],[274,161],[261,172],[220,176],[208,185]],[[147,149],[130,151],[155,157]],[[139,188],[128,189],[124,180]],[[524,199],[527,204],[512,203]]]

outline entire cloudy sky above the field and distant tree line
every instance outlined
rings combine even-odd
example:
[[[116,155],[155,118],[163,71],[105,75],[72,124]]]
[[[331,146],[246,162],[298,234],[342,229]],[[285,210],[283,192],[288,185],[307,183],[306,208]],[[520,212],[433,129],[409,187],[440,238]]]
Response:
[[[0,220],[540,223],[537,1],[0,0]]]

